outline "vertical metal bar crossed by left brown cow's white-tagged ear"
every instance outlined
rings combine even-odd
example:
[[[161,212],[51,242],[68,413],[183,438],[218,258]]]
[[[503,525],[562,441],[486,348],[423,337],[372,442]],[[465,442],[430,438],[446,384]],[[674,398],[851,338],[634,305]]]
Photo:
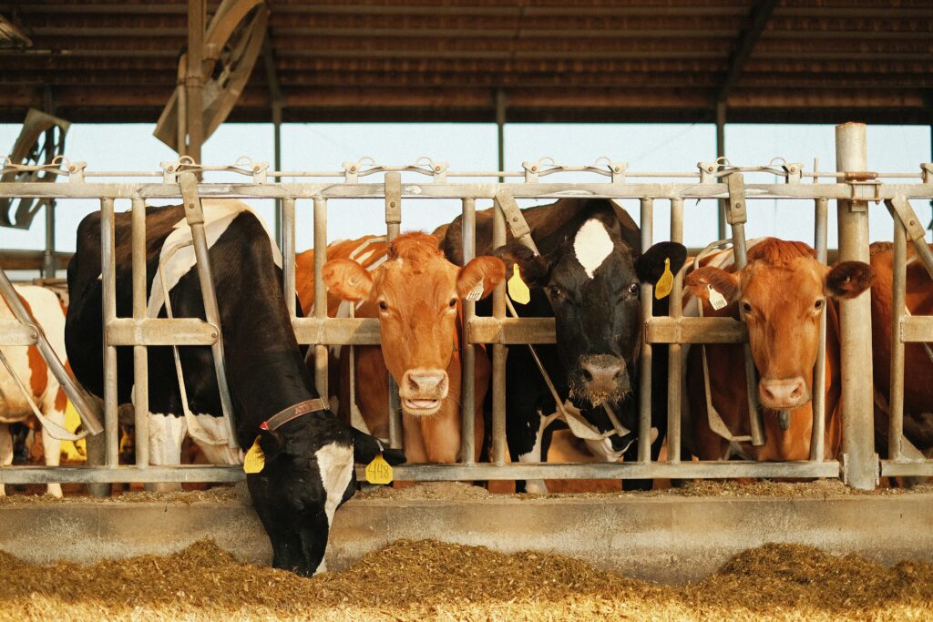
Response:
[[[462,236],[464,246],[464,265],[476,256],[476,199],[463,200]],[[476,315],[476,302],[464,300],[463,335],[460,336],[460,357],[463,378],[461,387],[461,416],[463,422],[460,436],[460,460],[465,464],[475,463],[475,429],[476,416],[476,350],[475,346],[467,342],[469,323]]]

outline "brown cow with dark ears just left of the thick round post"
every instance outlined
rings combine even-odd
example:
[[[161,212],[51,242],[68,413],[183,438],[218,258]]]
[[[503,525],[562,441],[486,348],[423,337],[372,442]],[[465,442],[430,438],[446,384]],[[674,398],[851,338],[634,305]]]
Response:
[[[806,460],[813,428],[813,369],[818,348],[819,319],[827,317],[825,457],[842,446],[840,421],[839,322],[832,297],[856,297],[871,283],[865,263],[845,261],[831,269],[819,263],[815,251],[802,242],[765,238],[748,249],[748,264],[735,271],[704,266],[685,283],[703,300],[704,316],[738,318],[740,306],[748,325],[752,358],[759,372],[758,398],[764,409],[765,444],[754,447],[729,441],[710,429],[703,388],[701,349],[689,352],[688,390],[695,451],[701,460],[728,458],[734,449],[759,461]],[[715,311],[710,286],[729,304]],[[825,297],[830,297],[829,304]],[[827,309],[829,311],[827,311]],[[712,402],[732,435],[748,435],[744,349],[737,344],[707,345]],[[782,427],[777,413],[789,411]]]

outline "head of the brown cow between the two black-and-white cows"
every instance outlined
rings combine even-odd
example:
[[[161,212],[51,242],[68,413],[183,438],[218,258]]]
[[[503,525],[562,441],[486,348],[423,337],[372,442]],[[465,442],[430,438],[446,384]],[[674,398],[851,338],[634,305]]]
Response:
[[[505,275],[495,257],[481,256],[463,268],[444,258],[438,239],[407,233],[389,244],[386,261],[373,273],[349,259],[328,261],[327,286],[347,300],[378,308],[383,359],[410,415],[438,412],[447,397],[460,299],[474,288],[488,296]]]

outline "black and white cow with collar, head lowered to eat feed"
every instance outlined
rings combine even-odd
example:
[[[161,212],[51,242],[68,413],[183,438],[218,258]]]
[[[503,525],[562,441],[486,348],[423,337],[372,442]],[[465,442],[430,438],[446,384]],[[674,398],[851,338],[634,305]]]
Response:
[[[281,256],[258,215],[235,200],[204,200],[203,205],[237,440],[247,449],[258,437],[265,454],[264,468],[247,476],[249,491],[272,540],[272,564],[311,575],[325,569],[330,521],[355,491],[354,462],[369,462],[380,447],[312,401],[318,395],[288,319]],[[131,214],[116,214],[118,316],[132,315],[130,221]],[[65,325],[72,368],[96,395],[104,392],[100,230],[99,212],[78,226],[77,252],[68,266],[71,306]],[[204,318],[190,241],[182,206],[146,209],[150,317],[166,315],[157,274],[163,270],[174,316]],[[165,258],[161,267],[160,257]],[[211,349],[179,351],[188,416],[171,348],[148,349],[151,462],[178,463],[186,434],[212,462],[242,462],[243,451],[225,442]],[[132,348],[118,348],[121,404],[131,401],[132,385]],[[394,451],[386,451],[385,458],[390,463],[404,459]]]

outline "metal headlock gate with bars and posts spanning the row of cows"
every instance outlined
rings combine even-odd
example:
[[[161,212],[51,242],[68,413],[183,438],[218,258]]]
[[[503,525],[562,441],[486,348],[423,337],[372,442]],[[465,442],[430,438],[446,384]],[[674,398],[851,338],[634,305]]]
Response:
[[[216,321],[216,307],[212,313],[205,299],[208,317],[205,322],[192,318],[157,319],[146,317],[146,261],[145,245],[146,200],[183,198],[187,206],[188,223],[197,250],[198,269],[208,275],[206,269],[206,245],[203,244],[203,229],[198,232],[200,198],[265,199],[278,200],[283,229],[283,255],[285,299],[292,316],[292,325],[299,343],[311,344],[315,348],[317,386],[327,387],[327,346],[373,345],[380,340],[379,323],[374,318],[327,318],[327,306],[315,305],[313,317],[299,317],[295,305],[295,239],[296,209],[299,201],[313,202],[314,225],[314,297],[327,299],[326,285],[321,278],[327,261],[327,208],[331,200],[379,199],[385,200],[385,225],[387,236],[394,238],[401,223],[403,200],[456,199],[462,201],[464,258],[469,261],[476,253],[475,223],[478,200],[491,200],[499,209],[494,214],[493,242],[501,245],[507,240],[507,228],[520,241],[532,243],[527,235],[515,200],[547,199],[564,197],[599,197],[614,200],[634,199],[640,201],[641,240],[643,248],[654,241],[652,227],[656,203],[666,201],[671,212],[670,239],[683,241],[684,202],[686,200],[723,200],[727,208],[727,220],[731,226],[731,242],[737,266],[745,265],[745,222],[748,200],[783,199],[813,200],[815,205],[815,247],[820,261],[827,258],[827,218],[829,200],[836,200],[839,216],[839,241],[841,260],[869,260],[868,203],[881,201],[891,210],[895,218],[896,255],[895,308],[903,308],[903,274],[905,270],[905,236],[915,243],[918,254],[927,270],[933,272],[933,258],[929,256],[923,239],[923,228],[912,212],[909,199],[933,198],[933,165],[921,164],[919,173],[867,173],[866,127],[860,124],[845,124],[836,131],[837,168],[842,173],[812,171],[805,172],[801,164],[781,162],[766,166],[742,168],[728,161],[700,163],[699,171],[688,173],[644,172],[627,170],[627,164],[608,159],[597,160],[592,166],[559,166],[549,159],[525,162],[523,171],[517,172],[461,172],[448,171],[447,164],[430,160],[419,160],[410,166],[379,166],[371,160],[344,163],[340,172],[296,172],[269,171],[264,163],[237,163],[231,166],[203,166],[182,159],[165,162],[157,173],[128,173],[86,171],[84,163],[58,161],[44,168],[49,172],[67,176],[62,184],[0,184],[0,198],[91,198],[101,202],[102,256],[104,257],[104,335],[106,339],[104,357],[104,437],[105,460],[99,466],[70,467],[7,467],[0,469],[0,482],[163,482],[163,481],[233,481],[244,477],[243,470],[236,466],[159,466],[148,464],[146,410],[137,408],[136,414],[136,464],[118,465],[118,422],[116,391],[116,348],[132,346],[134,349],[135,386],[134,402],[139,407],[147,405],[146,348],[162,345],[210,345],[218,352],[220,327]],[[9,168],[7,166],[7,168]],[[816,167],[815,167],[816,168]],[[6,171],[6,169],[5,169]],[[192,173],[213,175],[217,172],[237,173],[245,177],[242,182],[197,183]],[[402,181],[401,173],[421,175],[416,181]],[[547,183],[543,178],[556,173],[592,173],[606,177],[599,182]],[[783,177],[783,183],[745,184],[743,173],[773,173]],[[119,176],[159,176],[154,183],[98,182],[93,178]],[[383,182],[366,183],[364,178],[383,175]],[[425,181],[423,177],[428,177]],[[315,179],[330,178],[330,179]],[[333,178],[341,181],[331,181]],[[460,181],[452,181],[459,178]],[[518,181],[495,182],[496,178]],[[650,180],[648,180],[650,178]],[[653,181],[667,178],[666,181]],[[804,183],[804,178],[812,183]],[[299,179],[286,182],[285,179]],[[306,181],[308,180],[308,181]],[[644,180],[644,181],[637,181]],[[723,184],[722,182],[727,182]],[[133,316],[118,318],[115,307],[114,281],[114,237],[113,214],[115,200],[129,200],[132,204],[132,263],[133,263]],[[61,209],[61,208],[60,208]],[[508,217],[507,217],[508,216]],[[202,220],[201,220],[202,222]],[[199,238],[201,241],[199,242]],[[921,249],[926,249],[923,251]],[[644,285],[642,310],[645,323],[645,342],[641,355],[641,394],[648,395],[651,387],[650,363],[654,344],[669,344],[671,348],[669,369],[668,410],[679,413],[682,368],[678,355],[685,344],[694,343],[747,343],[745,326],[731,318],[683,317],[682,304],[683,270],[675,278],[671,293],[672,312],[670,317],[652,317],[650,299],[651,286]],[[898,277],[897,275],[900,275]],[[0,276],[0,284],[6,278]],[[898,285],[898,283],[900,283]],[[8,283],[7,283],[8,284]],[[899,286],[899,290],[898,290]],[[4,297],[11,290],[2,288]],[[213,296],[210,279],[202,279],[202,291],[206,297]],[[898,298],[899,297],[899,298]],[[900,300],[898,307],[897,300]],[[505,435],[505,359],[509,345],[553,343],[554,322],[552,318],[507,317],[505,283],[494,292],[493,315],[475,315],[474,303],[465,305],[466,344],[463,368],[462,408],[469,416],[462,417],[464,459],[455,464],[400,465],[395,468],[395,477],[400,480],[472,480],[472,479],[550,479],[550,478],[654,478],[654,477],[842,477],[849,485],[859,489],[870,489],[876,485],[879,475],[933,476],[933,461],[923,459],[918,452],[905,450],[909,445],[902,437],[902,378],[903,344],[905,342],[933,342],[933,317],[907,317],[903,312],[895,313],[895,350],[892,357],[892,404],[891,404],[891,448],[890,459],[880,463],[874,449],[872,420],[872,370],[870,325],[870,298],[865,295],[841,302],[842,341],[842,462],[823,460],[823,415],[822,399],[824,375],[816,373],[815,380],[815,424],[811,460],[792,463],[756,463],[749,461],[728,462],[681,462],[681,421],[678,416],[669,417],[667,429],[668,459],[663,462],[650,460],[649,400],[642,399],[638,435],[638,460],[633,463],[507,463]],[[214,317],[211,317],[211,316]],[[19,317],[19,322],[0,323],[0,344],[41,344],[41,333],[28,317]],[[823,333],[825,334],[825,322]],[[474,347],[478,344],[491,346],[493,362],[493,446],[491,463],[475,463],[473,452],[473,417],[475,404],[473,392]],[[825,364],[825,344],[821,343],[817,357],[818,372]],[[47,352],[48,351],[48,352]],[[42,349],[44,355],[51,353]],[[222,351],[221,351],[222,352]],[[51,356],[54,356],[51,353]],[[216,372],[223,386],[223,359]],[[900,361],[898,366],[897,361]],[[51,363],[54,368],[54,363]],[[746,366],[754,371],[747,356]],[[762,442],[760,413],[754,404],[754,376],[747,374],[751,401],[750,412],[752,442]],[[138,381],[142,379],[142,381]],[[85,425],[91,432],[94,427],[91,406],[81,403],[79,388],[64,381],[77,398],[77,408],[82,413]],[[326,393],[326,391],[325,391]],[[900,399],[897,396],[900,395]],[[397,394],[390,392],[387,408],[390,408],[390,435],[394,446],[401,444],[401,414]]]

